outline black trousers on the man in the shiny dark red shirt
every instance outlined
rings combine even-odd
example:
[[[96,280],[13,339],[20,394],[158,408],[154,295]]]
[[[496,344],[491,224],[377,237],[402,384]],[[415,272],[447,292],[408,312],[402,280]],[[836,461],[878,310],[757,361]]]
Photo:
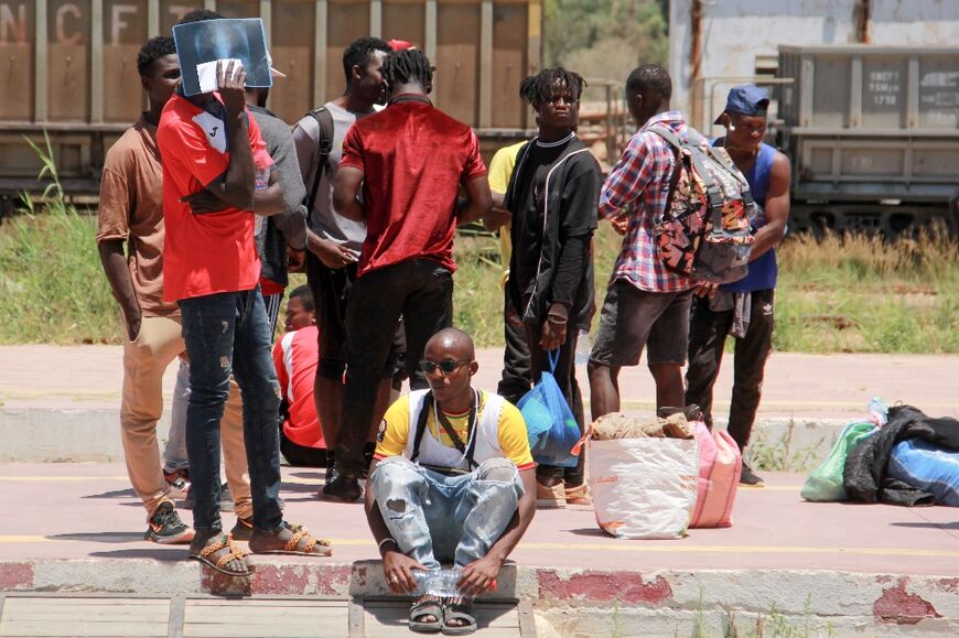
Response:
[[[344,476],[358,477],[366,467],[363,448],[401,315],[410,387],[424,389],[425,378],[412,372],[430,337],[453,324],[453,273],[435,261],[411,259],[367,272],[353,283],[346,304],[346,385],[335,451],[336,471]]]

